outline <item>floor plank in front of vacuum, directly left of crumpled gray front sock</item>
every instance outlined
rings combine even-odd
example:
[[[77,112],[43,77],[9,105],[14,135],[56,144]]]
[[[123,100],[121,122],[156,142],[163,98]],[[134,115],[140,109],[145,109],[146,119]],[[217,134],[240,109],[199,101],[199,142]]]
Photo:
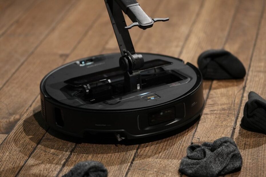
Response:
[[[178,167],[195,124],[174,136],[141,144],[127,176],[180,176]]]

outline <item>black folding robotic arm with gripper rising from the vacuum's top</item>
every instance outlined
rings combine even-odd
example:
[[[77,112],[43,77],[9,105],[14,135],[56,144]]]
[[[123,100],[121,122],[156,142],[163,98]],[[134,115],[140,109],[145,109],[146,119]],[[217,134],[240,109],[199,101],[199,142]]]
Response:
[[[168,21],[169,18],[151,19],[140,7],[136,0],[104,0],[109,17],[114,28],[114,33],[120,48],[121,57],[119,66],[124,71],[125,91],[141,89],[141,75],[139,69],[144,65],[142,55],[136,54],[128,29],[138,26],[147,29],[157,21]],[[133,22],[127,26],[122,11]]]

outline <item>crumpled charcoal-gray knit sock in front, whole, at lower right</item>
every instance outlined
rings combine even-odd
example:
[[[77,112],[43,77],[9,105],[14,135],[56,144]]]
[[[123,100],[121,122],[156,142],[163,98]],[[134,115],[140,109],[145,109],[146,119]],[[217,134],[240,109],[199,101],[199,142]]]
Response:
[[[193,177],[212,177],[239,171],[241,167],[242,157],[237,145],[231,138],[223,137],[213,143],[188,146],[179,172]]]

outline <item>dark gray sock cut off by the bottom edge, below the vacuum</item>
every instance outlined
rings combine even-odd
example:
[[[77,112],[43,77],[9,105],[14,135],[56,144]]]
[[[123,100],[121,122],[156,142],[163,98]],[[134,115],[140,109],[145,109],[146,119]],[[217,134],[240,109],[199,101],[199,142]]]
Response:
[[[107,169],[100,162],[85,161],[77,163],[63,177],[107,177]]]

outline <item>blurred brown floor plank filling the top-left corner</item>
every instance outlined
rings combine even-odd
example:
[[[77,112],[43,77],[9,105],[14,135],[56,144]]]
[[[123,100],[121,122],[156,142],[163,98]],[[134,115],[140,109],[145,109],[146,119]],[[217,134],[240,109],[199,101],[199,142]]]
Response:
[[[30,7],[33,6],[34,3],[37,3],[36,0],[27,0],[21,1],[16,0],[11,5],[1,10],[0,5],[0,37],[3,33],[9,29],[9,27],[19,19],[19,17],[23,16],[26,11],[29,10]],[[14,13],[16,12],[16,13]]]

